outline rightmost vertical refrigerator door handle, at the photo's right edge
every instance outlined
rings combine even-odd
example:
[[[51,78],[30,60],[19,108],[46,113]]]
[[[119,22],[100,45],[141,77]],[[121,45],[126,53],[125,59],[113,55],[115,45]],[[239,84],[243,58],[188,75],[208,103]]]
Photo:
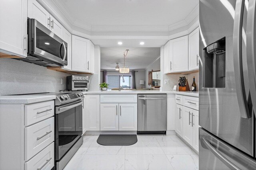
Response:
[[[246,58],[247,58],[247,67],[248,67],[248,76],[249,76],[249,87],[250,94],[252,94],[251,102],[254,110],[254,114],[256,116],[256,48],[254,45],[256,44],[255,39],[255,27],[256,27],[256,1],[250,0],[248,4],[248,14],[247,14],[247,22],[246,22]],[[248,96],[249,98],[249,96]],[[250,107],[249,107],[250,109]],[[253,111],[250,110],[250,111]]]

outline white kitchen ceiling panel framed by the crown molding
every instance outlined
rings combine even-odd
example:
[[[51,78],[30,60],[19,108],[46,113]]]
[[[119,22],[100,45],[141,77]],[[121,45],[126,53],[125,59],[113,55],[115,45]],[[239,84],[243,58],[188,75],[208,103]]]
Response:
[[[184,20],[198,0],[54,0],[74,25],[168,26]]]

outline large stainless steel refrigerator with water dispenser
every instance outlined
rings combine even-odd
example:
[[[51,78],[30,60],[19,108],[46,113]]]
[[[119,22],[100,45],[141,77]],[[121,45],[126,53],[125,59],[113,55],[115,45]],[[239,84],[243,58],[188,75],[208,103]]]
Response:
[[[256,169],[256,0],[200,0],[199,169]]]

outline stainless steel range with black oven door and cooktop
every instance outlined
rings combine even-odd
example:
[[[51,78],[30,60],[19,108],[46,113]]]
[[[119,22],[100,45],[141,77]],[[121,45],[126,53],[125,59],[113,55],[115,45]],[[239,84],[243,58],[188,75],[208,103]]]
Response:
[[[41,93],[55,99],[55,169],[62,170],[83,143],[82,93]]]

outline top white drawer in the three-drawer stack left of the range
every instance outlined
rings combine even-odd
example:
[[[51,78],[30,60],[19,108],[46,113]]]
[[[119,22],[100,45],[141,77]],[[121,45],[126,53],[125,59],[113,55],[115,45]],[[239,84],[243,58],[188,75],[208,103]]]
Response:
[[[25,105],[25,126],[54,115],[54,101]]]

